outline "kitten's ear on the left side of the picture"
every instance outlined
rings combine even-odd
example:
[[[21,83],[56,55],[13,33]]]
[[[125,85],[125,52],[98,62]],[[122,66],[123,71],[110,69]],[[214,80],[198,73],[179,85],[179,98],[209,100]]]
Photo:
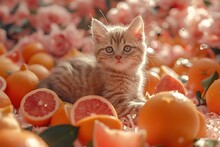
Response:
[[[92,18],[91,24],[92,37],[95,42],[102,42],[106,39],[107,28],[99,20]]]

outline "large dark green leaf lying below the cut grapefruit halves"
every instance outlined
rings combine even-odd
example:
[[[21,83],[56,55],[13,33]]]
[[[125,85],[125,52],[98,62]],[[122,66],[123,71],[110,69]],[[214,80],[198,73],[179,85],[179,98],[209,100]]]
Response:
[[[79,128],[73,125],[57,125],[48,128],[39,136],[50,147],[72,147],[74,140],[77,138],[78,130]]]

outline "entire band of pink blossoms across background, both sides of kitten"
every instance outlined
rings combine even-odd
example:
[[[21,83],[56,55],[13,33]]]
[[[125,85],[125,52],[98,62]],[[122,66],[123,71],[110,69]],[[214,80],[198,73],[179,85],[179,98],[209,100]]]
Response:
[[[218,0],[1,0],[0,42],[12,49],[37,40],[57,57],[72,48],[90,52],[92,17],[128,24],[141,15],[149,45],[158,55],[176,59],[184,55],[180,48],[220,48],[219,8]]]

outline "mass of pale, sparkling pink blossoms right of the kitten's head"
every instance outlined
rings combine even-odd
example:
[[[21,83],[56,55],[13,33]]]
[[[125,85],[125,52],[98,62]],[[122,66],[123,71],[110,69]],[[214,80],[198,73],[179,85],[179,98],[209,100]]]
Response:
[[[174,61],[186,51],[194,54],[195,47],[220,48],[219,0],[125,0],[110,9],[107,18],[127,24],[137,15],[143,17],[147,41],[158,56],[172,54]]]

